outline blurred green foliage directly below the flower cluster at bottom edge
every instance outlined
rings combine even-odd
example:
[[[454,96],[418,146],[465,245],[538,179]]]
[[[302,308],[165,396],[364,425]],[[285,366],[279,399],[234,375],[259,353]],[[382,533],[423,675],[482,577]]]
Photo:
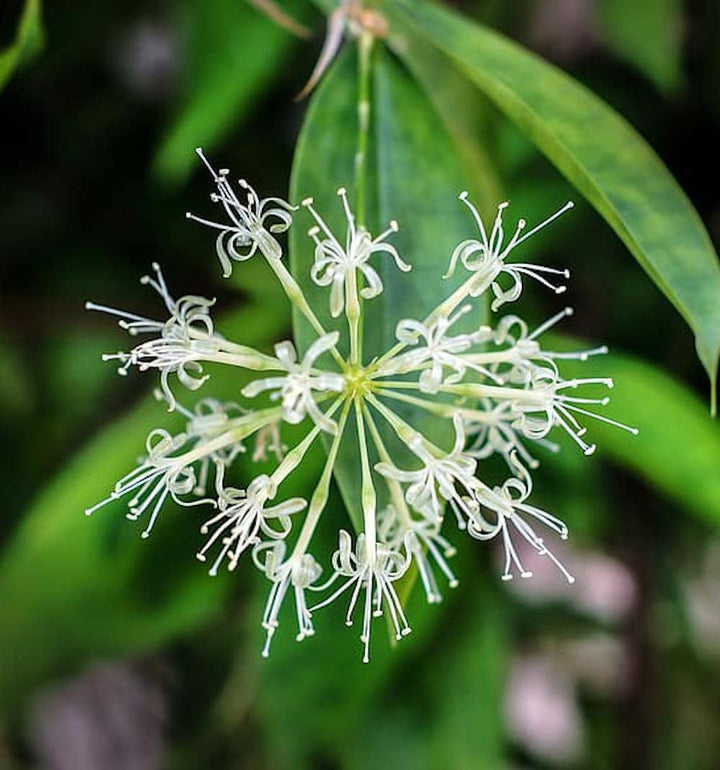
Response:
[[[461,568],[471,568],[468,561]],[[318,756],[338,757],[351,769],[376,764],[432,770],[445,766],[448,756],[457,757],[456,767],[498,766],[508,652],[508,617],[500,604],[505,597],[471,584],[439,605],[428,605],[419,594],[408,606],[413,633],[396,648],[378,634],[370,665],[349,644],[357,630],[344,627],[338,608],[318,617],[317,635],[302,644],[278,634],[260,665],[257,690],[258,716],[278,766],[312,768]],[[442,660],[431,670],[419,668],[438,644]]]

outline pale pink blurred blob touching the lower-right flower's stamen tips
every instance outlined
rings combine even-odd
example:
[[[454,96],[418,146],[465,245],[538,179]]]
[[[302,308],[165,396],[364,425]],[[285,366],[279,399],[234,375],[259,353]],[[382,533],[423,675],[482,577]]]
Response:
[[[552,548],[575,577],[572,585],[549,559],[518,542],[522,563],[533,574],[508,581],[508,588],[528,602],[566,602],[604,623],[627,617],[637,601],[637,586],[625,565],[596,551],[577,551],[561,543]]]

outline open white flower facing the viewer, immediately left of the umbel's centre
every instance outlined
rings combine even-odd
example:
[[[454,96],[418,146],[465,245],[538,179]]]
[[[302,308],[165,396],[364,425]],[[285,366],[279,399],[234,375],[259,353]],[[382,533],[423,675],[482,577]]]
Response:
[[[336,372],[316,372],[313,367],[323,353],[335,347],[339,336],[338,332],[332,332],[315,340],[301,363],[298,363],[292,342],[278,343],[275,345],[278,368],[285,369],[287,375],[254,380],[242,389],[242,394],[252,398],[266,390],[273,390],[271,398],[282,399],[283,419],[287,422],[296,424],[309,415],[322,430],[337,432],[337,423],[323,414],[315,402],[313,391],[339,393],[345,387],[345,379]]]

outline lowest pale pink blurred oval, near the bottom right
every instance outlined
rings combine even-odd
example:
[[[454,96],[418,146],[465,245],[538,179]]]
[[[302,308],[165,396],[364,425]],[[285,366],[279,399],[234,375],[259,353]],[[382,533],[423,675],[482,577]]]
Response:
[[[505,694],[512,737],[530,753],[551,762],[576,762],[583,752],[583,727],[575,687],[552,658],[518,657]]]

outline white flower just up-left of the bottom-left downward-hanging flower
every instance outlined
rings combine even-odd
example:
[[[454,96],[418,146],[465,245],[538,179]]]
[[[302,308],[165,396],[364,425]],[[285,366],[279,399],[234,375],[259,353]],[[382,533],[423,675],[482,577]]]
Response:
[[[269,538],[287,537],[292,527],[290,516],[307,506],[300,497],[285,500],[279,505],[268,506],[277,494],[277,485],[265,474],[258,476],[248,484],[247,490],[224,487],[222,466],[218,469],[218,507],[217,515],[208,519],[200,531],[212,535],[197,553],[200,561],[205,561],[207,552],[220,543],[220,553],[210,568],[211,575],[217,575],[218,568],[227,557],[228,569],[234,570],[243,552],[260,542],[260,533]]]

